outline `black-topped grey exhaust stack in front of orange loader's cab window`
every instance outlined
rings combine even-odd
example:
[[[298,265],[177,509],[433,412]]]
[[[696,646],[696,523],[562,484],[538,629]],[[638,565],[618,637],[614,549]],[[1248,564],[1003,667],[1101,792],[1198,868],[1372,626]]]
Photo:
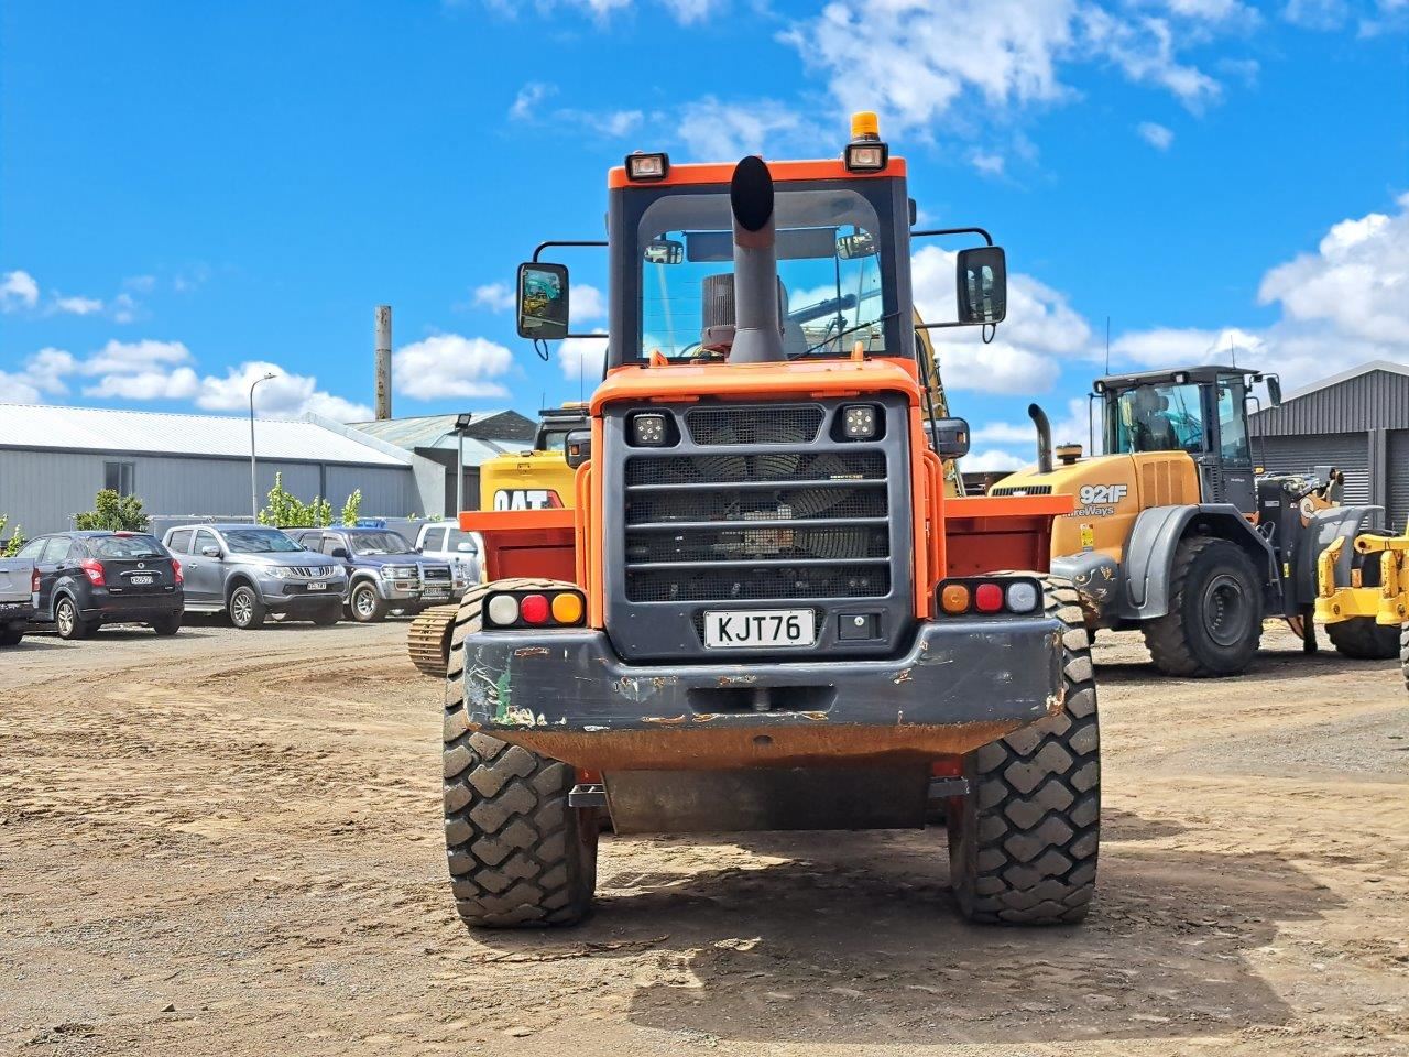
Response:
[[[731,364],[785,359],[778,304],[778,247],[774,228],[774,178],[762,158],[734,166],[728,186],[734,213],[734,344]]]

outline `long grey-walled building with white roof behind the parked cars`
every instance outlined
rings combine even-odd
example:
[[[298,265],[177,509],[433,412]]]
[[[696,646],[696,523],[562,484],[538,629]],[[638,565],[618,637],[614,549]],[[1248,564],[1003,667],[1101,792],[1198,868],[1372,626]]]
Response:
[[[304,502],[334,509],[354,490],[362,513],[441,513],[444,469],[430,459],[316,416],[254,423],[256,493],[275,474]],[[168,519],[248,519],[248,417],[159,414],[96,407],[0,404],[0,514],[25,536],[73,527],[99,489],[139,496]]]

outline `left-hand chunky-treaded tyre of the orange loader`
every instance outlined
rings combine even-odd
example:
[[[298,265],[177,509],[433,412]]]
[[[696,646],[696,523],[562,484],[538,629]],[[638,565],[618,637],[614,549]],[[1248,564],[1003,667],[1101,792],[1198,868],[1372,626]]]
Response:
[[[445,855],[455,909],[478,927],[575,925],[592,912],[595,809],[568,806],[575,768],[471,730],[465,637],[496,589],[571,588],[550,579],[482,583],[461,600],[445,674]],[[469,672],[473,678],[473,672]]]

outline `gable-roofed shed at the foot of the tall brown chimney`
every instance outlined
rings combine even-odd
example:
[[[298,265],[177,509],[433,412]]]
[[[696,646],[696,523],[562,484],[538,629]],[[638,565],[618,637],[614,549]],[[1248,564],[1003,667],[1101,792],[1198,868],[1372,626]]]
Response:
[[[413,419],[385,419],[352,423],[352,428],[442,468],[445,500],[442,513],[457,512],[455,465],[464,451],[464,509],[479,509],[479,468],[499,455],[517,454],[533,447],[538,424],[519,412],[504,409],[473,412],[464,430],[457,428],[455,414],[424,414]],[[464,438],[461,438],[464,433]],[[464,445],[464,447],[462,447]]]

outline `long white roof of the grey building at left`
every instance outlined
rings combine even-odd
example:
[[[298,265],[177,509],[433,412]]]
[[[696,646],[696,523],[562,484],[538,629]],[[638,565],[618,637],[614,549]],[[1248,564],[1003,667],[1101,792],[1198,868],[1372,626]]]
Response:
[[[0,447],[248,458],[249,419],[0,403]],[[393,454],[306,420],[256,419],[259,458],[300,462],[411,465]]]

